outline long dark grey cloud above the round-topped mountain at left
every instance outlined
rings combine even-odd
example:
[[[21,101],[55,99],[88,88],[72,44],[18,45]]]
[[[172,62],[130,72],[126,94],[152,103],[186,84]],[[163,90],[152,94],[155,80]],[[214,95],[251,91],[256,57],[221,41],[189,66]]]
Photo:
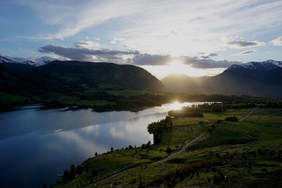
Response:
[[[121,63],[122,55],[137,55],[138,50],[116,50],[108,48],[88,49],[84,47],[65,47],[60,45],[48,44],[38,48],[38,52],[60,55],[65,58],[78,61],[107,61]]]

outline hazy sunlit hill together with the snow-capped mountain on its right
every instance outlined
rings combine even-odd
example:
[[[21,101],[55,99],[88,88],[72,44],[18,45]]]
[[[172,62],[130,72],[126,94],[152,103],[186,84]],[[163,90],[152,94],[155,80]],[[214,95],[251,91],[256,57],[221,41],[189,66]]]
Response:
[[[162,79],[170,91],[202,94],[253,95],[282,98],[282,61],[267,60],[231,65],[211,77],[171,74]]]

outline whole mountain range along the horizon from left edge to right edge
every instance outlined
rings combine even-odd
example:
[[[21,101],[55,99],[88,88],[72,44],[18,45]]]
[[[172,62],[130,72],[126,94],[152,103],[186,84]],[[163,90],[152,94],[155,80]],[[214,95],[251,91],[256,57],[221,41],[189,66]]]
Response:
[[[5,57],[0,57],[0,62],[2,62],[0,63],[3,67],[2,72],[10,71],[9,73],[17,81],[15,84],[11,77],[7,76],[9,74],[3,74],[7,77],[1,77],[1,91],[8,86],[9,92],[20,88],[18,94],[22,90],[27,90],[20,85],[30,86],[32,83],[33,88],[44,86],[49,90],[50,82],[59,82],[55,85],[61,86],[60,90],[75,88],[75,91],[78,91],[103,87],[282,98],[282,61],[271,59],[262,62],[251,61],[241,65],[234,64],[216,76],[191,77],[185,74],[170,74],[161,81],[145,69],[133,65],[57,60],[51,63],[30,60],[19,63]],[[21,83],[23,81],[26,83]],[[37,85],[38,83],[40,84]],[[14,85],[17,87],[13,88]]]

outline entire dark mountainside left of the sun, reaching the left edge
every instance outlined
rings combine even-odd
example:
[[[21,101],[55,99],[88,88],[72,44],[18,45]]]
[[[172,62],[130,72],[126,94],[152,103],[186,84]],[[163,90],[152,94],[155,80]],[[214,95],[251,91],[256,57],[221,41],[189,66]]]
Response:
[[[145,69],[114,63],[53,61],[35,67],[7,62],[0,64],[0,79],[0,91],[4,93],[44,99],[93,95],[101,89],[166,90]]]

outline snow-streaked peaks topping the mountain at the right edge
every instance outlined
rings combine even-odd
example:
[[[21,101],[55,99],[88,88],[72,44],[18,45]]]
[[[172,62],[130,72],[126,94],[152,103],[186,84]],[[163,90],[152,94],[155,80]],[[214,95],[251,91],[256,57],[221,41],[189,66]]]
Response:
[[[262,61],[262,62],[256,62],[251,61],[245,64],[241,65],[231,65],[228,69],[234,69],[234,68],[245,68],[249,70],[257,70],[257,71],[269,71],[272,69],[277,69],[279,67],[282,67],[282,61],[275,61],[272,59]]]

